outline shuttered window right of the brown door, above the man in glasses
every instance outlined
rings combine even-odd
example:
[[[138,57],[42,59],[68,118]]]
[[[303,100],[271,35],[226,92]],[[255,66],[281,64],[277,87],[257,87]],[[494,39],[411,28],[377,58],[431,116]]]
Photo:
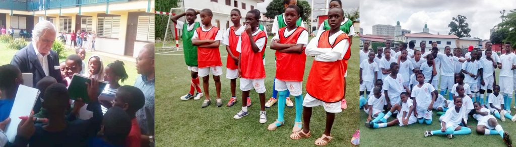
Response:
[[[138,16],[136,40],[154,42],[154,15]]]

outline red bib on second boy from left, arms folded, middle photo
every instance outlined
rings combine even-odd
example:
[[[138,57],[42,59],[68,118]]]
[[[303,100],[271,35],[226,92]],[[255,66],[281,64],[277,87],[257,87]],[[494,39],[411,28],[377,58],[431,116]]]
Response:
[[[215,40],[215,36],[219,31],[219,28],[213,27],[209,31],[202,31],[202,27],[196,29],[197,35],[199,36],[199,40]],[[199,68],[211,67],[211,66],[222,66],[222,61],[220,61],[220,52],[219,48],[203,48],[197,47],[197,62],[199,63]]]

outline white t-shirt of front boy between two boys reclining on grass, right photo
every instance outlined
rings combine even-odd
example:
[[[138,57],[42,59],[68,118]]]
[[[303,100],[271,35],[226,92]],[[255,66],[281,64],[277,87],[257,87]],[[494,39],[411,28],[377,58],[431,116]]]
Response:
[[[432,92],[436,89],[431,84],[423,83],[421,87],[415,85],[412,87],[411,97],[417,102],[417,109],[427,109],[432,102]]]

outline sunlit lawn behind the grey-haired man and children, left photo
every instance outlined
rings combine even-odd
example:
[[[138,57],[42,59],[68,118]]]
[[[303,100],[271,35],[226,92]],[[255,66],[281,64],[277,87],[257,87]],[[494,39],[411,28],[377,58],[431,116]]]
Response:
[[[28,42],[27,42],[28,43]],[[69,45],[67,46],[69,47]],[[12,57],[18,50],[12,50],[7,48],[7,44],[0,43],[0,65],[9,64],[11,63]],[[65,49],[65,56],[68,57],[70,54],[75,54],[75,50],[71,48]],[[86,59],[85,63],[88,62],[88,58],[94,54],[94,52],[86,52]],[[108,56],[100,56],[102,58],[102,62],[104,64],[104,68],[107,66],[107,64],[112,63],[116,60],[123,61],[125,64],[125,72],[127,72],[128,78],[126,81],[121,82],[121,85],[134,85],[134,82],[136,81],[136,76],[138,76],[138,73],[136,71],[136,61],[126,61],[121,59],[115,59]],[[59,62],[65,61],[65,59],[59,59]],[[87,63],[86,63],[87,64]]]

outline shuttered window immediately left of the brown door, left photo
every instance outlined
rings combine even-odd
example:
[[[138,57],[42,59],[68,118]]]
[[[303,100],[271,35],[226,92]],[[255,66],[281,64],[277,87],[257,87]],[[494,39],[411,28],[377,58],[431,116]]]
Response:
[[[120,16],[97,18],[97,36],[118,38],[120,34]]]

